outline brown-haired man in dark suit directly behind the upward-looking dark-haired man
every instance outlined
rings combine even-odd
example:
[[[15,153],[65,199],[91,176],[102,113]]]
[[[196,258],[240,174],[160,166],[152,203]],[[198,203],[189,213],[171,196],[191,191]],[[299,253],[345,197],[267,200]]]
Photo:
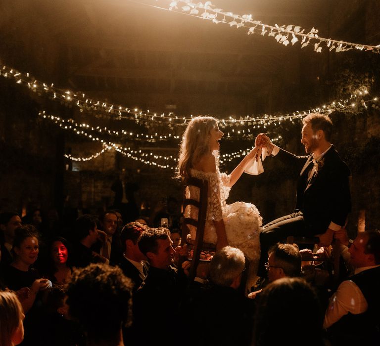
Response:
[[[127,223],[121,231],[120,239],[123,249],[123,258],[120,268],[125,276],[132,279],[134,292],[138,290],[148,272],[146,256],[140,251],[138,240],[146,227],[139,222]]]

